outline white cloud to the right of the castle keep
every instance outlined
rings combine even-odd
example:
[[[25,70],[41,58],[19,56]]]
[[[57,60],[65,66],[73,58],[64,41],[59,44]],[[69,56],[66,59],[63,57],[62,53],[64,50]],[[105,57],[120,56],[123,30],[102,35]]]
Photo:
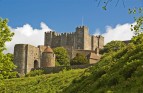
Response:
[[[135,23],[133,23],[135,24]],[[134,33],[130,30],[131,24],[118,24],[115,28],[111,26],[106,27],[106,32],[102,34],[104,36],[104,44],[112,41],[112,40],[130,40]]]

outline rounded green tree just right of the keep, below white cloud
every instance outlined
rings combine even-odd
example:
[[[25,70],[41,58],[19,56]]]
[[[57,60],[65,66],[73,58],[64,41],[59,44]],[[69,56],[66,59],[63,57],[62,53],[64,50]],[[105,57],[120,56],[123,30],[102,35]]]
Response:
[[[107,43],[104,46],[104,49],[102,49],[100,52],[102,54],[109,53],[109,52],[113,52],[113,51],[118,51],[124,47],[125,47],[125,43],[122,41],[111,41],[111,42]]]

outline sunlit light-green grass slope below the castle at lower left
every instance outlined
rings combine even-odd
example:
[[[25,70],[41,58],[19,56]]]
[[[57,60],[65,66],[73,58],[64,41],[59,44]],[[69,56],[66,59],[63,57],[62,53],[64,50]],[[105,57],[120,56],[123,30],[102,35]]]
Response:
[[[6,79],[0,86],[0,93],[62,93],[84,71],[85,69],[64,70],[56,74]]]

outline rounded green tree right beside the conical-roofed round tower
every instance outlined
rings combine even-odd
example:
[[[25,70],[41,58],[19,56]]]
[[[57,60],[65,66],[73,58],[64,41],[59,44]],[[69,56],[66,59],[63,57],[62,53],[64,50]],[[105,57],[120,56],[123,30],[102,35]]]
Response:
[[[70,64],[68,52],[63,47],[57,47],[54,49],[56,55],[56,64],[67,66]]]

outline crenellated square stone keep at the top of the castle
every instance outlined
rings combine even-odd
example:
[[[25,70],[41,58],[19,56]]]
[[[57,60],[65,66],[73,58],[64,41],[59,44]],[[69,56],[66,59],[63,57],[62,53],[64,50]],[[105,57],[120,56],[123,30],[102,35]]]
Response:
[[[104,37],[89,35],[86,26],[76,28],[72,33],[45,32],[45,46],[55,47],[72,47],[73,49],[95,50],[103,48]]]

